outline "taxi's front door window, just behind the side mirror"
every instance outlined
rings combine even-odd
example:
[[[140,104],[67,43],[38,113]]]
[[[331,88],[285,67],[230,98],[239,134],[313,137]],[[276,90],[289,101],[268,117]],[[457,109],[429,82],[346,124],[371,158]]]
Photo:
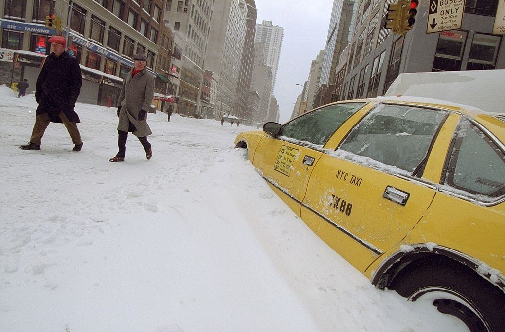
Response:
[[[286,123],[279,136],[324,145],[338,127],[364,105],[365,103],[348,103],[322,107]]]

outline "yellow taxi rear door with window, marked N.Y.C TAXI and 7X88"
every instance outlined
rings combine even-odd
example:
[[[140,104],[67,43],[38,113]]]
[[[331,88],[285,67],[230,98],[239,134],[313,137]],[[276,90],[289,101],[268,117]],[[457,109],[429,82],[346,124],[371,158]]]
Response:
[[[365,271],[406,236],[431,203],[435,184],[416,175],[447,116],[423,107],[375,107],[335,152],[321,156],[301,218]]]

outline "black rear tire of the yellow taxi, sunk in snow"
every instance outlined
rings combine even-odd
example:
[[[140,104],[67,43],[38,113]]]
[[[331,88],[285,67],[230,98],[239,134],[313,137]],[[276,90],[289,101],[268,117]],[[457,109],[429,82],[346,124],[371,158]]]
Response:
[[[505,331],[501,289],[456,261],[443,257],[415,261],[402,269],[388,288],[410,301],[436,295],[433,305],[438,311],[459,318],[472,332]]]

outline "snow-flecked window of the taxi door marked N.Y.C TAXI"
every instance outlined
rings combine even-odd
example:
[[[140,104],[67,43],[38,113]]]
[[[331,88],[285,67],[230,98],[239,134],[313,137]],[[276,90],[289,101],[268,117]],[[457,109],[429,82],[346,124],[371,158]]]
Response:
[[[381,104],[367,114],[339,149],[413,172],[447,112],[423,107]]]

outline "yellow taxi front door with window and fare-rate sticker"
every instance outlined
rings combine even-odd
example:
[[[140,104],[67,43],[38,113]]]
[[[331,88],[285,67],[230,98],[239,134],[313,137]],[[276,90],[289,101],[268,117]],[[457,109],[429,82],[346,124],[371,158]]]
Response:
[[[261,140],[253,164],[297,215],[324,144],[364,105],[343,103],[316,109],[286,123],[278,137]]]

